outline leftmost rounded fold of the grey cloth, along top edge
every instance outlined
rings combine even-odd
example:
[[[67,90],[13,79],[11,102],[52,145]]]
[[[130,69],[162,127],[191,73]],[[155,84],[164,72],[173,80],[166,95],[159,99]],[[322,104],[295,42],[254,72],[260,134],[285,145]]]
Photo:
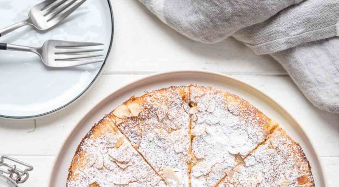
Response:
[[[222,41],[302,0],[140,0],[179,33],[204,42]]]

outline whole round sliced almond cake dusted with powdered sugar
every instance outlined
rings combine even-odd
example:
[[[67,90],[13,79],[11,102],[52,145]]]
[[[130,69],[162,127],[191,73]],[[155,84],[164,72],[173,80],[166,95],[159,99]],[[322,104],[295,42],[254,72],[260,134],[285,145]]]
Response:
[[[67,187],[314,187],[300,145],[240,97],[171,86],[132,97],[80,142]]]

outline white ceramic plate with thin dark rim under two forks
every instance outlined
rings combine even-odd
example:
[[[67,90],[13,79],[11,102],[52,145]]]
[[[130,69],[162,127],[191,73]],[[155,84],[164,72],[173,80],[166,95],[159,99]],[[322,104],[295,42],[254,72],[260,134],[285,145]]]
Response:
[[[41,0],[0,0],[0,28],[27,18]],[[49,39],[104,43],[107,55],[113,39],[109,0],[87,0],[57,27],[41,32],[22,27],[0,38],[2,43],[39,47]],[[48,68],[33,53],[0,51],[0,117],[35,118],[74,102],[94,82],[105,63],[73,68]]]

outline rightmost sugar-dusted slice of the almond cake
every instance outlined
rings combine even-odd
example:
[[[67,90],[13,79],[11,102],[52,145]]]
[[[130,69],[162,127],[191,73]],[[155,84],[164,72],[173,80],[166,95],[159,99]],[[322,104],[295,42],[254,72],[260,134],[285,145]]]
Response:
[[[218,187],[314,187],[314,181],[300,145],[277,128]]]

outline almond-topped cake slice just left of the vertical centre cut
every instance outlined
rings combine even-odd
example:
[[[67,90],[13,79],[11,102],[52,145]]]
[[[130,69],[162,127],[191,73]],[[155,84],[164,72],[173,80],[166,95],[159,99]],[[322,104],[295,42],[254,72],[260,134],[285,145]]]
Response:
[[[109,116],[133,147],[172,187],[189,187],[188,86],[132,97]]]

